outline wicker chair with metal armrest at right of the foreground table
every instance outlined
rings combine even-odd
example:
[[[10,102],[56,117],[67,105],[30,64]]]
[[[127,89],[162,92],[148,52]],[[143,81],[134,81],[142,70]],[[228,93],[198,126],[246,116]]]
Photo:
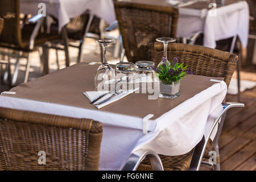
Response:
[[[159,64],[163,57],[163,44],[162,43],[150,43],[149,46],[149,57],[151,61],[154,61],[155,64]],[[167,57],[168,60],[174,59],[174,57],[179,57],[179,61],[183,61],[185,65],[188,65],[189,69],[195,71],[196,75],[203,76],[211,76],[211,77],[224,77],[224,81],[229,86],[230,80],[232,78],[233,72],[236,69],[236,63],[238,60],[238,56],[229,52],[219,51],[217,49],[207,48],[203,46],[195,46],[189,44],[179,44],[179,43],[171,43],[168,44],[167,49]],[[243,104],[223,104],[224,110],[229,107],[241,107]],[[205,145],[205,149],[203,150],[202,159],[208,160],[210,158],[209,151],[215,150],[217,152],[217,164],[209,164],[206,162],[202,162],[210,167],[214,167],[214,169],[220,169],[220,156],[218,153],[218,138],[220,137],[222,125],[225,119],[225,111],[223,111],[223,117],[221,118],[221,122],[218,125],[218,132],[216,134],[216,138],[214,141],[210,139],[205,139],[203,145]],[[217,123],[217,122],[216,122]],[[204,139],[204,138],[203,138]],[[200,155],[197,152],[197,155]],[[170,169],[170,165],[173,166],[173,159],[175,159],[174,166],[180,164],[179,169],[188,169],[189,163],[192,158],[192,153],[181,155],[181,156],[160,156],[160,158],[167,162],[167,168]],[[147,161],[146,161],[147,162]],[[164,166],[163,162],[163,166]],[[166,168],[164,166],[164,168]],[[150,166],[143,166],[143,169],[150,169]],[[167,169],[167,170],[169,170]],[[174,167],[177,169],[177,167]]]

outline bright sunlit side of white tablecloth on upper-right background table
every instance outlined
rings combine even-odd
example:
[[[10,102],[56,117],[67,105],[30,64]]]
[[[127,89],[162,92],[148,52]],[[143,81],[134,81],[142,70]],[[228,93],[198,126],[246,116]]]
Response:
[[[216,41],[238,35],[244,47],[249,36],[249,6],[246,1],[217,8],[217,16],[207,15],[204,27],[204,46],[216,47]]]

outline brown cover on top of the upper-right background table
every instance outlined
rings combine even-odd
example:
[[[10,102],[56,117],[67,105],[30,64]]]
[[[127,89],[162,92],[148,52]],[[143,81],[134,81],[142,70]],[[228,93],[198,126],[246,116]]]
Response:
[[[148,4],[148,5],[158,5],[158,6],[171,6],[169,3],[166,2],[166,0],[130,0],[129,2],[134,3],[141,3],[141,4]],[[189,9],[210,9],[209,3],[214,2],[213,0],[210,1],[199,1],[194,3],[193,5],[184,6],[182,8],[189,8]],[[225,5],[230,5],[232,3],[236,3],[238,0],[226,0]],[[221,5],[217,5],[217,7],[221,7]]]

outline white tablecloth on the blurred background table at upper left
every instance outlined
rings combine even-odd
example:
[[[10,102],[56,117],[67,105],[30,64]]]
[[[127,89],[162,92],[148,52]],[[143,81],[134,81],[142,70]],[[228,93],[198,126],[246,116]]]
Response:
[[[59,20],[59,30],[71,18],[81,15],[86,10],[111,24],[115,20],[112,0],[21,0],[20,12],[24,14],[38,14],[39,3],[46,4],[46,15],[55,16]]]

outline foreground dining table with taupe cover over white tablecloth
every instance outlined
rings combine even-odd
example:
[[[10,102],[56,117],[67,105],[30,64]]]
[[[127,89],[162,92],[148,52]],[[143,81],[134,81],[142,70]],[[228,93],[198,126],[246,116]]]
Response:
[[[138,150],[186,154],[209,133],[222,111],[227,91],[223,78],[199,75],[184,77],[180,96],[173,100],[134,92],[98,109],[84,94],[96,91],[98,66],[79,63],[20,84],[1,93],[0,107],[102,122],[100,170],[122,169]]]

